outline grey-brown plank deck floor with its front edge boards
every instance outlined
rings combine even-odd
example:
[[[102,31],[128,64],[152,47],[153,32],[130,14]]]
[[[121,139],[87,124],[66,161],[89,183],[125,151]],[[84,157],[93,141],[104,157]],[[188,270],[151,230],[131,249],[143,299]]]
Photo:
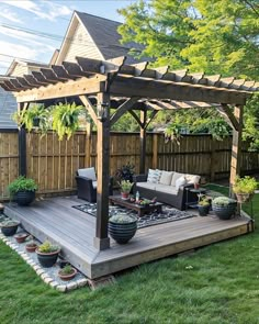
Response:
[[[111,239],[111,248],[98,252],[93,247],[95,219],[71,208],[80,203],[76,197],[48,198],[27,208],[9,203],[5,214],[20,220],[40,241],[59,244],[64,256],[92,279],[252,231],[246,216],[229,221],[196,216],[138,230],[128,244]]]

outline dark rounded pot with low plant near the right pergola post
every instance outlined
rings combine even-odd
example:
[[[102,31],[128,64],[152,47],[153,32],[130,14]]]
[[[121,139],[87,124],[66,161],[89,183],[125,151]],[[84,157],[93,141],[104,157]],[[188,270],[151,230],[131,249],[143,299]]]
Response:
[[[229,220],[236,208],[237,201],[227,197],[217,197],[212,201],[212,210],[221,220]]]

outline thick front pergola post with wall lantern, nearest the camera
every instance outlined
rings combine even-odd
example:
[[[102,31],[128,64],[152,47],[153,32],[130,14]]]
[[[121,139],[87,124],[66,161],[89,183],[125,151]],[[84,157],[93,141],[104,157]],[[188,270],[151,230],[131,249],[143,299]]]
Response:
[[[97,227],[93,245],[99,250],[110,247],[108,236],[109,182],[110,182],[110,96],[98,93],[98,188],[97,188]]]

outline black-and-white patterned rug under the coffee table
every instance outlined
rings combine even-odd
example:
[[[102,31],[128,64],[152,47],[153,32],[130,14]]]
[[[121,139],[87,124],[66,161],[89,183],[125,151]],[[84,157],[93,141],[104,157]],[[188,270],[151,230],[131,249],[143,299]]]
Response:
[[[81,212],[85,212],[87,214],[90,214],[94,217],[97,216],[97,204],[95,203],[88,202],[85,204],[74,205],[72,208],[75,208]],[[153,226],[153,225],[157,225],[157,224],[176,222],[176,221],[195,217],[195,215],[188,214],[184,211],[179,211],[179,210],[168,206],[168,205],[162,206],[162,213],[153,212],[149,214],[145,214],[145,216],[143,216],[143,217],[138,217],[137,213],[135,211],[128,210],[123,206],[119,206],[119,205],[110,205],[109,206],[109,216],[110,217],[112,215],[115,215],[119,213],[133,215],[133,216],[137,217],[137,228],[143,228],[143,227]]]

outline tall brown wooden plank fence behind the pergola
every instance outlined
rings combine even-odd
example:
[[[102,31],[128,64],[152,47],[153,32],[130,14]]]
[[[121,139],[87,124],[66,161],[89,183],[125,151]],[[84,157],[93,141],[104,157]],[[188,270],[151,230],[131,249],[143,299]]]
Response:
[[[111,133],[110,172],[126,163],[139,170],[139,134]],[[76,189],[78,168],[95,166],[97,134],[77,132],[69,141],[59,142],[55,133],[26,136],[27,177],[36,180],[40,193],[66,192]],[[259,154],[249,153],[244,145],[241,169],[246,174],[259,171]],[[146,169],[159,168],[199,174],[210,179],[229,176],[232,138],[213,141],[210,135],[184,135],[180,145],[165,143],[162,134],[147,135]],[[0,197],[8,197],[7,187],[18,176],[18,132],[0,131]],[[97,167],[97,166],[95,166]]]

